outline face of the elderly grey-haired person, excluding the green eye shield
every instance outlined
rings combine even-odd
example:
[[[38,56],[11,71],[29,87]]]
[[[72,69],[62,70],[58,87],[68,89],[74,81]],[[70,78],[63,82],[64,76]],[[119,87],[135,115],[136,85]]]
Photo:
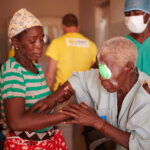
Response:
[[[99,79],[101,80],[101,84],[108,92],[116,92],[117,90],[121,89],[124,85],[126,79],[126,73],[124,68],[117,65],[113,57],[107,55],[105,57],[100,57],[99,60],[102,64],[107,65],[109,70],[111,71],[110,79],[104,79],[101,74],[99,74]]]

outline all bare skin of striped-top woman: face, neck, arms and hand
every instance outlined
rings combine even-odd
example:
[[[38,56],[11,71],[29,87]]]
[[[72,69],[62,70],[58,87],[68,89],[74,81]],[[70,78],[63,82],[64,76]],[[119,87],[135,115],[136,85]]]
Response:
[[[36,26],[27,29],[27,32],[23,34],[21,40],[16,38],[12,39],[13,45],[17,48],[15,51],[16,61],[35,74],[38,73],[38,71],[32,64],[32,60],[37,60],[42,55],[44,46],[43,36],[42,27]],[[49,103],[46,105],[48,109],[41,113],[33,113],[32,108],[30,108],[30,111],[26,111],[24,98],[16,97],[6,99],[4,101],[4,108],[8,127],[14,131],[34,131],[68,119],[68,116],[61,113],[48,113],[57,102],[66,100],[69,94],[72,93],[66,93],[66,89],[64,89],[63,86],[59,88],[58,93],[54,92],[53,95],[43,100],[43,102],[49,101]],[[40,111],[42,111],[42,109],[40,109]]]

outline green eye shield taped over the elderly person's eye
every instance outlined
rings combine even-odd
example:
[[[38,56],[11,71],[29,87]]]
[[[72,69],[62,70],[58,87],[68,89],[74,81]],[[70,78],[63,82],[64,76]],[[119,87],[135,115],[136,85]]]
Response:
[[[98,63],[99,65],[99,73],[104,79],[110,79],[111,77],[111,71],[106,65],[102,65]]]

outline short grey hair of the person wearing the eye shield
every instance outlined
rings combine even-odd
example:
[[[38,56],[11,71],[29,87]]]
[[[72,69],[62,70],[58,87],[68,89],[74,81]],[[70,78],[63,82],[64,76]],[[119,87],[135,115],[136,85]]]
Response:
[[[98,61],[100,56],[105,55],[113,56],[115,63],[121,67],[124,67],[129,61],[135,66],[137,60],[137,48],[131,40],[125,37],[113,37],[102,44],[97,54]]]

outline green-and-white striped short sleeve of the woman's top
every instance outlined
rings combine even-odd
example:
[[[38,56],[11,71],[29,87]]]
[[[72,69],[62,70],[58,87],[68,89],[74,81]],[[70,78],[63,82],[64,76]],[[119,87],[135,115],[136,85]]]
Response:
[[[25,83],[23,75],[17,69],[9,69],[1,75],[1,98],[24,97]]]

